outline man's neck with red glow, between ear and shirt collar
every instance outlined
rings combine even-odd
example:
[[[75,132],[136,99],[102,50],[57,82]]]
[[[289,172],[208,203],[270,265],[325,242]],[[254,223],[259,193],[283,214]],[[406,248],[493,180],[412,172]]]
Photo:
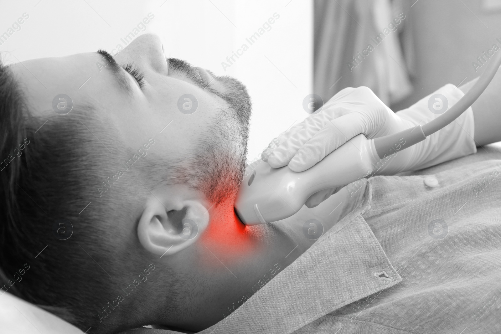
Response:
[[[192,331],[215,324],[306,249],[286,257],[297,245],[290,236],[273,224],[244,225],[233,203],[231,198],[209,210],[209,225],[193,245],[190,257],[183,258],[183,263],[190,264],[183,268],[183,276],[189,277],[186,295],[190,297],[183,299],[186,304],[179,307],[179,313],[187,316],[163,323]]]

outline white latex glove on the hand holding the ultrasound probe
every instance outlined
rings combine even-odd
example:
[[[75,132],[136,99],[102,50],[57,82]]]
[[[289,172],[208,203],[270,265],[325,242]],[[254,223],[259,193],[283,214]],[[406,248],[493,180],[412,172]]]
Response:
[[[464,95],[451,84],[433,94],[436,93],[446,97],[449,108]],[[371,139],[423,125],[439,116],[428,109],[431,95],[408,109],[393,113],[369,88],[345,88],[332,97],[320,113],[307,117],[274,139],[263,154],[264,160],[274,168],[289,165],[291,170],[301,172],[360,133]],[[454,122],[426,140],[399,151],[378,169],[377,174],[392,175],[422,169],[475,153],[473,130],[473,113],[468,108]],[[306,205],[316,206],[341,188],[319,191],[308,199]]]

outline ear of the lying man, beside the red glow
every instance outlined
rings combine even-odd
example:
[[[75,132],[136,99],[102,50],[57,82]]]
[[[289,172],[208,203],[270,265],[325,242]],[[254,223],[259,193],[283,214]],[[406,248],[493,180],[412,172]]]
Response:
[[[209,222],[202,200],[183,189],[164,190],[147,198],[137,226],[141,245],[160,257],[193,244]]]

